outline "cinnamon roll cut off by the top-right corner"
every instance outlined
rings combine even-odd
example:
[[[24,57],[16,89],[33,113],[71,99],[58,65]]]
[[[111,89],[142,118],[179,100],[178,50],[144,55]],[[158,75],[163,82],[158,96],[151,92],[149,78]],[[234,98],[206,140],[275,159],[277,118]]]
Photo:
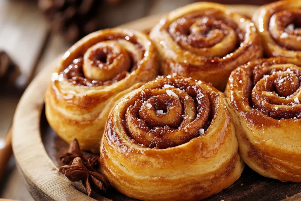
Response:
[[[301,1],[283,0],[260,7],[253,15],[265,54],[294,58],[301,64]]]

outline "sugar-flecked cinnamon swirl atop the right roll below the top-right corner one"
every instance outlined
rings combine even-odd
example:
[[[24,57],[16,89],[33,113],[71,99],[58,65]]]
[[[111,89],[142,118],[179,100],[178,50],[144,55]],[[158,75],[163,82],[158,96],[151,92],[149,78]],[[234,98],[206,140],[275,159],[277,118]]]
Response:
[[[253,70],[252,107],[274,119],[301,117],[301,71],[294,64],[265,62]]]

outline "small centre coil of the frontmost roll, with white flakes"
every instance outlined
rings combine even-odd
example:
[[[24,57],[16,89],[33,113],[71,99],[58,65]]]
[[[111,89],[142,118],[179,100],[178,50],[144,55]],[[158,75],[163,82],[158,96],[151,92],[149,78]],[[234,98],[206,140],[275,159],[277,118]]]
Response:
[[[139,116],[152,127],[175,128],[182,121],[182,104],[173,96],[152,96],[141,106]]]

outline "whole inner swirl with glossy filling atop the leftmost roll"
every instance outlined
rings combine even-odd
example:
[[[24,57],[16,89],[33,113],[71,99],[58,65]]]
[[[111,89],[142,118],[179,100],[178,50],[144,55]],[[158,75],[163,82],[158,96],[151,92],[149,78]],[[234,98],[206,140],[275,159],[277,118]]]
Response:
[[[84,50],[60,74],[74,85],[108,86],[139,68],[144,53],[135,36],[110,35]]]

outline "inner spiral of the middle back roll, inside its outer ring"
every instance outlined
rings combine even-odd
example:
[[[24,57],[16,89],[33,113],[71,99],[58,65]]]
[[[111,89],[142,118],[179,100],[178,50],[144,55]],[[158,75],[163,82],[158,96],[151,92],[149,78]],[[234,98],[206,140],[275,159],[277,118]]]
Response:
[[[172,22],[169,33],[178,45],[197,55],[224,56],[236,47],[237,34],[232,25],[212,15],[187,15]]]

